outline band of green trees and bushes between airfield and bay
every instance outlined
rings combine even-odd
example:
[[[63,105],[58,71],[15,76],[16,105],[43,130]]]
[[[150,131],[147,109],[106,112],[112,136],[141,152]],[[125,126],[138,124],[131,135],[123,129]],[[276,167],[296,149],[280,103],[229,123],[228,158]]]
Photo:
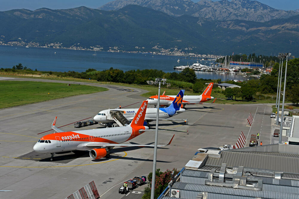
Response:
[[[284,82],[286,62],[282,64],[282,91]],[[243,69],[248,70],[250,69]],[[63,77],[74,77],[82,79],[95,79],[100,82],[118,82],[126,84],[146,85],[148,80],[154,81],[156,77],[164,77],[171,84],[172,88],[189,89],[195,93],[201,93],[206,87],[205,83],[215,82],[221,83],[221,79],[197,79],[193,69],[185,68],[180,73],[165,73],[157,69],[143,69],[122,71],[120,69],[109,68],[107,70],[97,71],[95,69],[87,69],[84,72],[52,72],[52,71],[35,71],[28,67],[24,67],[21,63],[12,68],[0,68],[4,72],[21,72],[30,74],[50,74]],[[228,98],[242,98],[245,100],[253,100],[257,94],[276,94],[278,81],[279,63],[275,63],[270,75],[262,74],[260,79],[251,79],[244,82],[226,81],[226,83],[236,84],[241,88],[227,88],[225,96]],[[254,71],[253,71],[254,72]],[[288,61],[287,78],[286,78],[286,94],[287,100],[296,103],[299,102],[299,58]]]

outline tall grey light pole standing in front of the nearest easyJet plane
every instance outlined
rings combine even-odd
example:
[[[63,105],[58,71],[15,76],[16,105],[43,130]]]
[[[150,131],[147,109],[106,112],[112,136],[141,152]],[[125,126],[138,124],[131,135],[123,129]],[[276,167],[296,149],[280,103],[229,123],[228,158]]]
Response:
[[[164,78],[156,78],[154,81],[147,81],[149,85],[153,84],[159,84],[159,90],[158,90],[158,103],[157,103],[157,118],[156,118],[156,131],[155,131],[155,147],[154,147],[154,160],[153,160],[153,166],[152,166],[152,189],[150,193],[150,198],[154,199],[155,197],[155,178],[156,178],[156,162],[157,162],[157,145],[158,145],[158,121],[159,121],[159,110],[160,110],[160,88],[161,88],[161,82],[162,84],[167,84],[166,79]],[[167,87],[169,87],[170,84],[167,84]]]

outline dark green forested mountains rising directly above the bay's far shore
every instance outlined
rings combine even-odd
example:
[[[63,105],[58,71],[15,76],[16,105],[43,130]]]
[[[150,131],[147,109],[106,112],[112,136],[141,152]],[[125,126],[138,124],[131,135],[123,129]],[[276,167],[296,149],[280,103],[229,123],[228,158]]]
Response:
[[[185,0],[187,1],[187,0]],[[299,55],[299,15],[267,22],[171,16],[138,5],[105,11],[78,7],[0,12],[0,42],[62,43],[103,50],[181,50],[200,54],[292,52]]]

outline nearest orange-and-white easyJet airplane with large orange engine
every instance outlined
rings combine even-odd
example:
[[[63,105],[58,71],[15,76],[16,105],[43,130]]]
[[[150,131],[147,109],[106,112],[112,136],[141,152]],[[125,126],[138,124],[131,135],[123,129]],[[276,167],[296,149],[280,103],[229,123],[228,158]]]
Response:
[[[115,128],[100,128],[81,131],[64,132],[55,127],[56,119],[51,127],[58,133],[52,133],[43,136],[34,146],[33,150],[39,153],[51,153],[51,161],[54,153],[65,151],[89,151],[89,156],[92,159],[102,157],[110,157],[109,151],[115,146],[154,146],[154,145],[139,145],[139,144],[120,144],[131,140],[132,138],[144,133],[149,127],[144,126],[145,112],[147,111],[147,101],[143,101],[132,122],[123,127]],[[173,135],[174,137],[174,135]],[[173,140],[173,137],[166,145]]]

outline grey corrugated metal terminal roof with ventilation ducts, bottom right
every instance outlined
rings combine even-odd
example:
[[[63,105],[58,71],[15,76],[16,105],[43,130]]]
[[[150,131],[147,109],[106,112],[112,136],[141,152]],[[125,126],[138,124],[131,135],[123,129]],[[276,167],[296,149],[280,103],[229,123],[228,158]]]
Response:
[[[231,150],[199,149],[170,183],[168,199],[299,198],[299,146],[272,144]],[[178,192],[179,191],[179,192]]]

